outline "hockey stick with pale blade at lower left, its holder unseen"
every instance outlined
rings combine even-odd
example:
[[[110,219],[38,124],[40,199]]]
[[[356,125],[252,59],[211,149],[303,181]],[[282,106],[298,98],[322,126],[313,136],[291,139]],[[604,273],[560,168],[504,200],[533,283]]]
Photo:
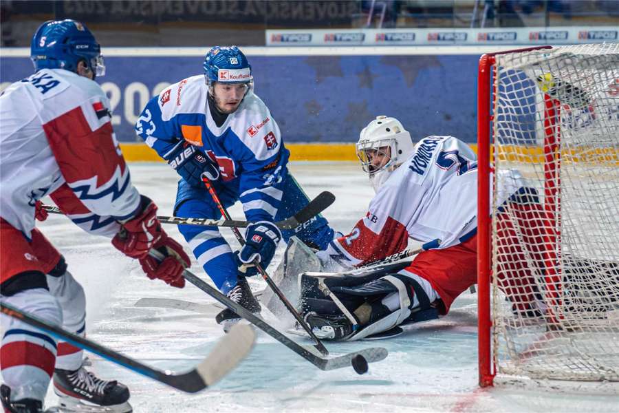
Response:
[[[48,321],[24,313],[9,304],[0,303],[0,308],[2,313],[39,328],[56,339],[67,341],[73,346],[98,354],[124,368],[188,393],[199,392],[228,374],[249,354],[256,339],[256,332],[253,328],[237,324],[239,328],[235,326],[227,335],[219,339],[215,348],[195,368],[188,372],[175,374],[170,370],[158,370],[146,366],[138,360],[124,356],[85,337],[74,335],[60,326],[54,326]]]

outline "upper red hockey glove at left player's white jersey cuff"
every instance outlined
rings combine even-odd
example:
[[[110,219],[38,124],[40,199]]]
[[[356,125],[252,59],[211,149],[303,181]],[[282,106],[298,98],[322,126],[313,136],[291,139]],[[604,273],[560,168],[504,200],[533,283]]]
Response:
[[[112,238],[112,245],[131,258],[144,257],[162,235],[165,235],[161,222],[157,219],[155,202],[142,195],[142,205],[142,212],[124,222],[120,231]]]

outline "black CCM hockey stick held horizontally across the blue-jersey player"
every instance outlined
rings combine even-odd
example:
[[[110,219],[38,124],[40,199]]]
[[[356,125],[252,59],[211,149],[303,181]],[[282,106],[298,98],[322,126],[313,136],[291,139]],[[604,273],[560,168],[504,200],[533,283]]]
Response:
[[[283,221],[273,222],[279,229],[295,229],[297,226],[303,224],[314,218],[315,215],[321,213],[324,209],[329,207],[335,200],[332,193],[324,191],[318,194],[316,198],[305,205],[305,208],[298,211],[292,217]],[[43,209],[49,213],[61,213],[64,214],[58,207],[52,207],[51,205],[43,205]],[[168,215],[158,215],[160,222],[164,224],[177,224],[177,225],[198,225],[198,226],[226,226],[231,228],[246,228],[246,226],[252,224],[247,221],[235,221],[235,220],[210,220],[208,218],[182,218]]]

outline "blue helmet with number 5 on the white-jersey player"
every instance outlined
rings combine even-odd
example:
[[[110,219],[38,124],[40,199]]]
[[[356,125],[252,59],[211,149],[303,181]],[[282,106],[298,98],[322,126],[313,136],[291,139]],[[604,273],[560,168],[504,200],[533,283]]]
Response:
[[[75,20],[46,21],[30,43],[30,59],[35,70],[66,69],[77,72],[80,61],[95,76],[105,74],[101,47],[85,25]]]

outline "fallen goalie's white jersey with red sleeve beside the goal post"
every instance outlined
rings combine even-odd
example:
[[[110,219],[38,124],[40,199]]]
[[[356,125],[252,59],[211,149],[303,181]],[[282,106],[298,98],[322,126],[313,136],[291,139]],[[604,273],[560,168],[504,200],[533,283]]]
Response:
[[[517,171],[499,181],[503,200],[522,187]],[[448,248],[476,231],[475,153],[453,136],[428,136],[382,184],[365,218],[321,255],[358,266],[402,251],[409,238],[424,249]]]

